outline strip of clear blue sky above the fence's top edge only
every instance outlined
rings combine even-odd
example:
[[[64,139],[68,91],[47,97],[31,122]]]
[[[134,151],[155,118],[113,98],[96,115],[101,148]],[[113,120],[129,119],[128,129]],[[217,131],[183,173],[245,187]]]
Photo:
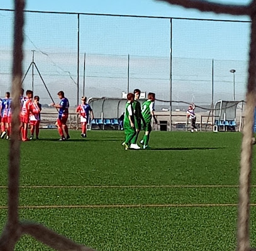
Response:
[[[1,9],[12,9],[11,0],[1,0]],[[213,3],[249,4],[250,0],[214,0]],[[246,16],[201,13],[193,9],[170,5],[156,0],[27,0],[26,10],[60,11],[72,13],[128,14],[142,16],[165,16],[172,18],[245,19]]]

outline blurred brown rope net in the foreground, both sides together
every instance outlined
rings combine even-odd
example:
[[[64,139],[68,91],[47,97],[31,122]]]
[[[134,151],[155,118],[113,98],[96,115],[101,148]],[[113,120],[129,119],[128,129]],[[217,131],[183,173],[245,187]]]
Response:
[[[252,19],[252,32],[250,44],[250,65],[247,84],[247,107],[245,114],[245,127],[243,131],[242,152],[240,161],[240,196],[238,203],[237,250],[249,251],[250,248],[250,181],[252,169],[252,126],[253,114],[256,104],[256,0],[250,6],[228,6],[213,4],[200,0],[163,0],[170,4],[180,4],[186,8],[197,8],[201,11],[214,11],[215,13],[248,15]],[[16,242],[23,234],[30,234],[40,242],[56,250],[91,250],[73,243],[71,240],[58,235],[35,223],[21,223],[18,215],[19,195],[19,93],[22,81],[23,60],[23,9],[25,0],[14,0],[14,48],[13,48],[13,137],[9,150],[9,183],[8,183],[8,222],[0,238],[0,250],[14,250]]]

